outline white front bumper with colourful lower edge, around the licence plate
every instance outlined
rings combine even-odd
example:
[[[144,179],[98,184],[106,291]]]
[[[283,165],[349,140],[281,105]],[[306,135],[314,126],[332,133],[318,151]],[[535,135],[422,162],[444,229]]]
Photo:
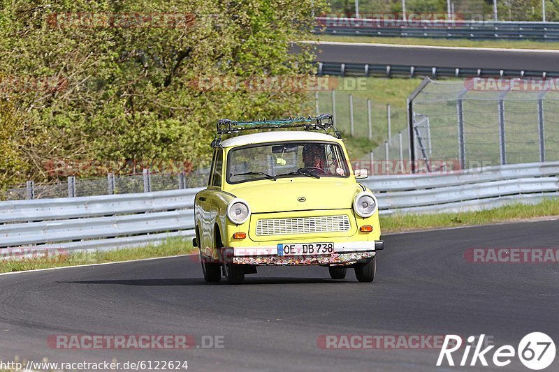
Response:
[[[367,262],[384,249],[384,241],[358,241],[335,243],[335,252],[319,255],[278,255],[277,246],[250,248],[222,248],[225,262],[236,265],[301,266],[301,265],[354,265]]]

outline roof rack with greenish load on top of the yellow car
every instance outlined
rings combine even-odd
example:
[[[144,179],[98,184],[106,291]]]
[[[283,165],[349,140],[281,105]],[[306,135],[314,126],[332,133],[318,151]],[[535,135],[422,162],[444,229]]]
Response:
[[[217,121],[217,133],[212,141],[212,147],[219,147],[224,134],[238,134],[242,131],[256,131],[259,129],[305,128],[305,131],[325,131],[333,128],[337,138],[340,132],[334,126],[331,114],[320,114],[317,117],[289,117],[277,120],[233,121],[221,119]]]

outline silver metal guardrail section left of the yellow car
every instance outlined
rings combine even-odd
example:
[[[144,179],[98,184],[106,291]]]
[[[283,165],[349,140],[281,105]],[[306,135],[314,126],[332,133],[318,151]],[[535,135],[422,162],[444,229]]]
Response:
[[[104,250],[192,237],[199,190],[0,202],[0,250]]]

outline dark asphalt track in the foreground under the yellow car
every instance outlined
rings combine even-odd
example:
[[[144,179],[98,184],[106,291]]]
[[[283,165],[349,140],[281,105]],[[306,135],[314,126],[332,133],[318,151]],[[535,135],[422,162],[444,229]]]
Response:
[[[245,285],[208,285],[198,262],[184,256],[0,276],[0,360],[187,359],[189,371],[433,371],[438,350],[331,350],[319,348],[317,338],[487,334],[495,345],[516,347],[525,334],[545,332],[558,343],[558,264],[464,258],[472,247],[555,248],[558,231],[559,221],[540,221],[389,235],[375,283],[357,283],[352,272],[333,281],[323,267],[268,267]],[[47,345],[53,334],[191,334],[198,343],[217,335],[224,348],[56,350]],[[558,369],[556,357],[547,371]],[[514,358],[498,370],[526,369]]]

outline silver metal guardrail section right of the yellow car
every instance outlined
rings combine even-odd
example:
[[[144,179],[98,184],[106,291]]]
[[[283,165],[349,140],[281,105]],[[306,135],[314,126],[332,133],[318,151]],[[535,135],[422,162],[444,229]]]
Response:
[[[370,177],[380,213],[469,211],[559,196],[559,162],[499,165],[456,174]]]

